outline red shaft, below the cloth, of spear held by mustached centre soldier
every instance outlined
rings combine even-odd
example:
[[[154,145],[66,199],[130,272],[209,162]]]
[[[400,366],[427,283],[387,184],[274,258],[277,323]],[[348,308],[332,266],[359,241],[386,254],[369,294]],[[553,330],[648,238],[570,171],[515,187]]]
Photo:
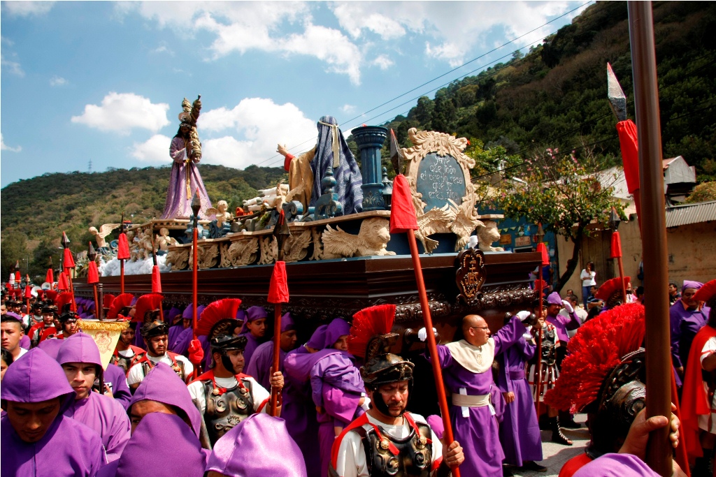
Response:
[[[412,256],[412,267],[415,270],[415,281],[417,282],[417,291],[420,295],[420,308],[422,310],[422,321],[427,331],[427,348],[430,350],[432,359],[432,375],[435,378],[435,387],[437,388],[437,403],[440,405],[440,414],[442,415],[442,425],[445,427],[445,445],[455,441],[453,438],[453,426],[450,424],[450,409],[448,408],[448,398],[445,396],[445,385],[442,383],[442,370],[440,369],[440,358],[437,354],[437,343],[435,343],[435,334],[432,333],[432,318],[430,317],[430,305],[427,303],[427,292],[425,291],[425,281],[422,278],[422,266],[420,265],[420,253],[417,251],[417,242],[415,241],[415,230],[407,231],[407,240],[410,244],[410,255]],[[453,476],[460,477],[460,469],[458,466],[452,468]]]

